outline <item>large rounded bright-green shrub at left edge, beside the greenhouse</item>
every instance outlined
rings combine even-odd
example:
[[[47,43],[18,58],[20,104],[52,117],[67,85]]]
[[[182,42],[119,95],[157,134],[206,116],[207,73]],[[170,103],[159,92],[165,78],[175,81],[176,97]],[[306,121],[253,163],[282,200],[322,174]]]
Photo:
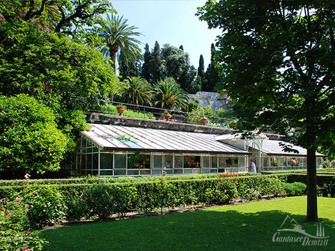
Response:
[[[57,170],[66,143],[50,108],[26,94],[0,96],[0,171]]]

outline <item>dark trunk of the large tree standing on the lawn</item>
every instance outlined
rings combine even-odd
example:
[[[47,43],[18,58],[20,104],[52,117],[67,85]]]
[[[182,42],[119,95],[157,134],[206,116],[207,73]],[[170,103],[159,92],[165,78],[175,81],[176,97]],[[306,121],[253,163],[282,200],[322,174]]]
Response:
[[[307,221],[318,221],[316,197],[316,148],[307,148]]]

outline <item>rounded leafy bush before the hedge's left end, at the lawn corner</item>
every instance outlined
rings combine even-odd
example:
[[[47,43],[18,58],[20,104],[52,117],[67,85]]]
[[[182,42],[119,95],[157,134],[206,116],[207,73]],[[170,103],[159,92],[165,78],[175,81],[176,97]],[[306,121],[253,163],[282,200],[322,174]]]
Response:
[[[55,185],[26,185],[17,196],[31,205],[28,219],[32,228],[56,224],[65,218],[67,208]]]

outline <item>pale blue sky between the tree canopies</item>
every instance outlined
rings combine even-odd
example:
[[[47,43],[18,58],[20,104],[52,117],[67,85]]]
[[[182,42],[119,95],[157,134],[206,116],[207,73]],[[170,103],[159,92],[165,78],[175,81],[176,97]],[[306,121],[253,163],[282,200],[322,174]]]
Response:
[[[128,24],[136,26],[144,34],[140,46],[144,52],[145,43],[150,50],[155,41],[160,47],[165,43],[178,47],[182,45],[189,53],[191,64],[198,69],[200,54],[204,56],[204,67],[211,61],[211,43],[215,43],[220,30],[209,30],[207,23],[195,17],[197,7],[206,0],[112,0],[117,14],[124,15]]]

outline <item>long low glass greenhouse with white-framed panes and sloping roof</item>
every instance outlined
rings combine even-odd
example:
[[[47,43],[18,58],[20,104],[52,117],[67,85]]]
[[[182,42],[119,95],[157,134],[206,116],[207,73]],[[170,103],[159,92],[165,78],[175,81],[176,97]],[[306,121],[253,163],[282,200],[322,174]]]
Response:
[[[250,159],[256,163],[257,172],[306,169],[304,148],[290,145],[294,152],[284,152],[285,142],[270,139],[270,134],[242,139],[229,131],[207,130],[209,126],[182,130],[180,123],[174,127],[173,122],[155,123],[90,124],[91,130],[82,132],[79,174],[113,177],[159,175],[163,170],[167,174],[248,172]],[[316,156],[317,168],[322,168],[325,155]]]

